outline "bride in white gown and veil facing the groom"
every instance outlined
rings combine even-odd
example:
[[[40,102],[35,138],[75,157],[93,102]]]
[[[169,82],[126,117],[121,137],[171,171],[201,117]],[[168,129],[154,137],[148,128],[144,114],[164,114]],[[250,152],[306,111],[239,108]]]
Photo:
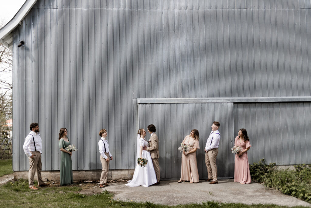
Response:
[[[148,162],[146,167],[141,167],[136,164],[134,175],[132,180],[128,181],[126,186],[134,187],[134,186],[145,186],[148,187],[157,182],[156,173],[153,168],[152,160],[150,152],[143,150],[143,147],[148,147],[148,142],[145,140],[146,131],[141,128],[137,133],[137,152],[135,162],[137,163],[137,158],[145,157]]]

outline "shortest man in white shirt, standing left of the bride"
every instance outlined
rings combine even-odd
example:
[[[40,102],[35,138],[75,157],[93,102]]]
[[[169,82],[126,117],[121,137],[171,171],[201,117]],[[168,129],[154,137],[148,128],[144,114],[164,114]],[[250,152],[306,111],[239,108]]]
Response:
[[[107,141],[107,130],[101,129],[99,131],[99,136],[101,138],[98,141],[98,148],[100,152],[100,162],[103,167],[101,175],[100,175],[99,187],[104,188],[105,186],[110,186],[109,184],[107,184],[107,175],[108,175],[108,170],[109,170],[109,162],[110,160],[112,160],[112,155],[109,151],[109,144]]]

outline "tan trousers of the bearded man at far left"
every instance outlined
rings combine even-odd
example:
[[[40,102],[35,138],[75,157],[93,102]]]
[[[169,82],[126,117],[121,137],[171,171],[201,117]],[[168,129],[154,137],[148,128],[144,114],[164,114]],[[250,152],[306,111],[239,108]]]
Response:
[[[35,172],[37,171],[37,180],[38,185],[44,183],[41,177],[41,170],[42,170],[42,162],[41,162],[41,154],[40,152],[31,152],[31,154],[34,154],[35,156],[33,158],[28,157],[29,159],[29,173],[28,173],[28,184],[29,187],[34,186],[34,177]]]

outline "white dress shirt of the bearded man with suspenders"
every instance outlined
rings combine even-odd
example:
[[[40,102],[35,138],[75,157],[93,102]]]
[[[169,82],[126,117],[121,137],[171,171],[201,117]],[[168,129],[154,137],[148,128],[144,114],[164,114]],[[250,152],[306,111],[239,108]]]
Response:
[[[29,134],[31,134],[34,137],[32,138],[32,136]],[[36,145],[37,151],[42,153],[42,139],[40,137],[40,134],[35,133],[34,131],[30,131],[29,134],[26,136],[25,143],[23,146],[24,152],[28,157],[32,155],[31,152],[35,152],[35,145]],[[34,145],[34,140],[35,140],[35,145]]]

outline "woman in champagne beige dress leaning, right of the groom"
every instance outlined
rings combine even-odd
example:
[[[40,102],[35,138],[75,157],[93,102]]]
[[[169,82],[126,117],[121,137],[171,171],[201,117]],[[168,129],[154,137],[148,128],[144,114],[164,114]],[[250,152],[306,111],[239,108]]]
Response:
[[[190,135],[187,135],[183,139],[183,144],[188,145],[189,151],[183,152],[181,158],[181,176],[178,182],[190,181],[190,183],[198,183],[197,149],[200,148],[199,131],[197,129],[191,130]]]

